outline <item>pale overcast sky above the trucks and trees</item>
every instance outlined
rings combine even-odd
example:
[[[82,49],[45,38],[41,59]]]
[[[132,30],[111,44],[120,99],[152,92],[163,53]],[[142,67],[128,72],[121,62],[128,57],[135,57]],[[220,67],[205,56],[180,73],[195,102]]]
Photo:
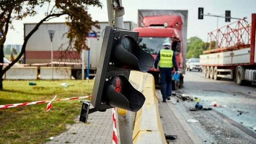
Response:
[[[101,0],[102,9],[89,7],[88,11],[93,20],[108,21],[106,0]],[[187,38],[197,36],[203,41],[207,40],[207,33],[217,28],[216,17],[198,19],[198,8],[204,8],[204,14],[215,15],[225,14],[225,10],[231,10],[231,17],[247,17],[251,22],[251,14],[256,13],[256,0],[122,0],[125,8],[124,21],[137,23],[137,9],[182,9],[188,10],[188,32]],[[9,29],[5,45],[23,44],[23,23],[37,23],[44,18],[46,7],[38,8],[38,14],[34,17],[27,17],[23,20],[13,21],[13,29]],[[64,22],[64,17],[51,19],[49,22]],[[236,21],[231,19],[231,22]],[[219,18],[219,27],[228,25],[225,18]]]

